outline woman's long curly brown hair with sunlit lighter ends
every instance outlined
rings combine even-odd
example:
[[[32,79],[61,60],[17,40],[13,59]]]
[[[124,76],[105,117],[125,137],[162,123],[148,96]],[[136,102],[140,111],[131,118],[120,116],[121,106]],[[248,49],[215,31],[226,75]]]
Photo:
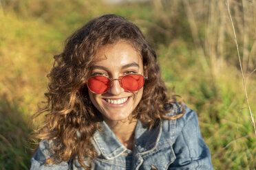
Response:
[[[89,99],[87,82],[96,51],[103,45],[120,40],[129,42],[136,49],[145,68],[145,81],[140,103],[132,113],[148,128],[163,119],[177,119],[184,114],[167,117],[167,110],[175,97],[167,95],[167,88],[160,78],[160,67],[153,51],[140,29],[121,16],[100,16],[78,29],[67,38],[65,49],[54,56],[54,65],[47,75],[50,78],[45,108],[34,114],[34,118],[46,112],[43,126],[36,130],[36,138],[51,140],[51,158],[45,164],[59,163],[77,158],[84,169],[84,158],[89,165],[97,157],[92,145],[92,136],[100,130],[100,113]],[[83,86],[82,90],[81,87]],[[77,135],[77,133],[80,135]]]

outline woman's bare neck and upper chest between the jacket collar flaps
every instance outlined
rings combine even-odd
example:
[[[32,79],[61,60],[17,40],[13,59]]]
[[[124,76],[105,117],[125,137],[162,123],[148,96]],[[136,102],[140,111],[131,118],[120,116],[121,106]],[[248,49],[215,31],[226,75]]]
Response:
[[[134,132],[137,120],[122,120],[122,121],[107,121],[105,120],[110,129],[114,132],[118,140],[132,150],[134,147]]]

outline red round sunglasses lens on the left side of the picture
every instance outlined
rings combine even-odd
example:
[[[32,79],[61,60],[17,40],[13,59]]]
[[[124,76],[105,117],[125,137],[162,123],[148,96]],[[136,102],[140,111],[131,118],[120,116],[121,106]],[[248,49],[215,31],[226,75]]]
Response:
[[[94,93],[105,93],[111,86],[111,82],[107,77],[94,76],[87,81],[87,87]]]

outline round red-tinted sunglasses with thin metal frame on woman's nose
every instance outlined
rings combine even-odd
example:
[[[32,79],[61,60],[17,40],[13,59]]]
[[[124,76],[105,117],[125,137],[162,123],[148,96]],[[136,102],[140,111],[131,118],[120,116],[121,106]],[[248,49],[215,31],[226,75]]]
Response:
[[[109,77],[102,75],[95,75],[89,77],[86,84],[92,93],[103,94],[109,90],[114,80],[118,80],[120,86],[125,89],[126,92],[133,92],[142,88],[145,79],[147,79],[147,77],[140,74],[123,75],[118,77],[118,79],[110,79]]]

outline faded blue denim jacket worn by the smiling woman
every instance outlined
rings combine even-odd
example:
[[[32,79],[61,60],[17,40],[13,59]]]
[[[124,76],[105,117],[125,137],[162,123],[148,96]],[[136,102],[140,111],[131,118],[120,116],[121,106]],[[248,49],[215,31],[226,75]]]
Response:
[[[103,121],[103,132],[96,132],[93,145],[98,154],[92,169],[213,169],[209,148],[204,143],[197,114],[184,106],[186,113],[175,120],[162,121],[151,130],[138,121],[133,151],[127,149]],[[182,106],[173,104],[169,116],[180,114]],[[31,169],[83,169],[78,160],[44,165],[49,143],[42,141],[32,158]],[[87,165],[87,162],[85,162]]]

